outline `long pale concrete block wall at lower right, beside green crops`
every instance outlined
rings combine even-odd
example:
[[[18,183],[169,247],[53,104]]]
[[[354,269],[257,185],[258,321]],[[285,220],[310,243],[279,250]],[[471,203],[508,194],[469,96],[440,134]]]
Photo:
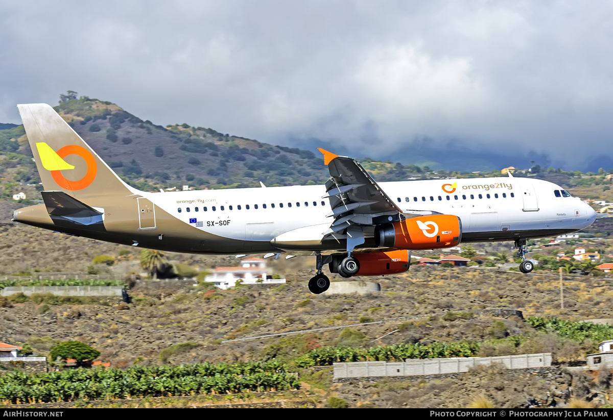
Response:
[[[468,372],[471,367],[503,363],[508,369],[551,366],[551,353],[518,354],[490,358],[407,359],[406,362],[335,363],[334,378],[401,377]]]

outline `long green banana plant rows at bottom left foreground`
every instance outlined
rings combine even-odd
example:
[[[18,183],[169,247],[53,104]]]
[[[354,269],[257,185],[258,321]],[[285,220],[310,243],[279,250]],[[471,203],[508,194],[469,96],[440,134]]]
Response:
[[[200,363],[135,366],[128,369],[74,369],[0,376],[0,402],[40,403],[140,397],[284,391],[298,389],[295,374],[276,361],[246,364]]]

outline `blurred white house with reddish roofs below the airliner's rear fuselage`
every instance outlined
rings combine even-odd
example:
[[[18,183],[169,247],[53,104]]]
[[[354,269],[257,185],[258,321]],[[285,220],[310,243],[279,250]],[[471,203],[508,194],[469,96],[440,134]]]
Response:
[[[213,274],[204,278],[220,289],[226,290],[234,287],[238,280],[243,284],[270,284],[285,283],[285,279],[273,279],[267,275],[266,261],[261,258],[245,258],[240,262],[240,267],[218,267]]]

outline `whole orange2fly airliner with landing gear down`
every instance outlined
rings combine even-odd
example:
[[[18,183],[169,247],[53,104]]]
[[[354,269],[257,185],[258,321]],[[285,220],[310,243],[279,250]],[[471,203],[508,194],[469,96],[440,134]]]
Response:
[[[74,236],[172,252],[316,256],[311,293],[342,277],[406,272],[411,250],[526,242],[591,225],[595,211],[530,178],[376,182],[359,162],[319,149],[322,186],[145,192],[129,186],[45,103],[18,105],[44,204],[13,220]]]

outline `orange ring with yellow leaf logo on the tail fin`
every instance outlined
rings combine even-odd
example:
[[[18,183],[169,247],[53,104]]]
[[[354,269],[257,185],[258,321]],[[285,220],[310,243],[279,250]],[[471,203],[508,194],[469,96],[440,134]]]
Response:
[[[55,152],[50,148],[50,146],[48,146],[47,143],[36,143],[36,148],[39,152],[40,161],[42,162],[43,167],[51,171],[53,180],[63,189],[70,191],[82,190],[88,187],[89,184],[91,184],[96,178],[96,159],[91,152],[88,151],[88,149],[83,148],[82,146],[77,146],[76,144],[69,144],[68,146],[64,146]],[[85,173],[85,176],[78,181],[70,181],[69,179],[64,178],[62,174],[63,170],[74,169],[73,165],[70,165],[64,160],[64,157],[73,154],[82,157],[87,165],[87,172]]]

